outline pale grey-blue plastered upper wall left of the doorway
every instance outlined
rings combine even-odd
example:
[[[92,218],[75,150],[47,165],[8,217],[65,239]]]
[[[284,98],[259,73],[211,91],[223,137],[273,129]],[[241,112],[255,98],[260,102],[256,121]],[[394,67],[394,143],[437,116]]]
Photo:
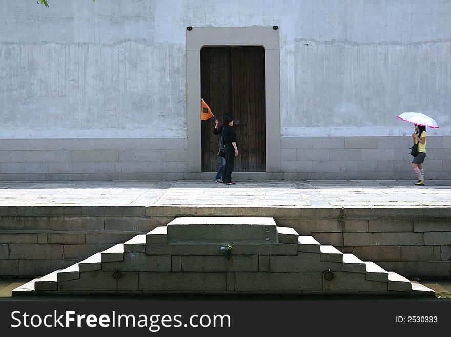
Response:
[[[186,136],[185,25],[162,4],[5,6],[1,137]]]

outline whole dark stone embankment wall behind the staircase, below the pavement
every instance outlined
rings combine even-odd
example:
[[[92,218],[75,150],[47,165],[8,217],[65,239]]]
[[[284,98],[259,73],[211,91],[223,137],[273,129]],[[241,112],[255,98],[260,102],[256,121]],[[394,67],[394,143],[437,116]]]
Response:
[[[231,207],[221,215],[235,216],[238,211],[255,216],[257,209]],[[405,277],[451,277],[450,209],[263,207],[258,214]],[[217,216],[217,210],[0,207],[0,276],[44,275],[181,216]]]

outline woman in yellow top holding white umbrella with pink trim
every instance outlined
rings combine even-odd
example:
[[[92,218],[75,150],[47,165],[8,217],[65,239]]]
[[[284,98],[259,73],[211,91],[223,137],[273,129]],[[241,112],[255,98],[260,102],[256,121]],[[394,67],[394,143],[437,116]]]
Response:
[[[398,118],[403,121],[415,124],[415,133],[412,134],[412,141],[418,144],[418,153],[412,161],[412,168],[418,176],[417,186],[424,185],[423,162],[426,158],[426,126],[438,129],[438,125],[433,118],[419,112],[404,112]]]

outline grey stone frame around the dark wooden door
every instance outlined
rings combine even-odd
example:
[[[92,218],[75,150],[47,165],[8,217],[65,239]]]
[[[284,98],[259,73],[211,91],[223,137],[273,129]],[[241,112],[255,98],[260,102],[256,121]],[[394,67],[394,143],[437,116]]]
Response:
[[[266,170],[280,172],[280,47],[279,30],[273,27],[193,27],[186,31],[187,172],[202,172],[200,50],[206,46],[262,46],[265,49]]]

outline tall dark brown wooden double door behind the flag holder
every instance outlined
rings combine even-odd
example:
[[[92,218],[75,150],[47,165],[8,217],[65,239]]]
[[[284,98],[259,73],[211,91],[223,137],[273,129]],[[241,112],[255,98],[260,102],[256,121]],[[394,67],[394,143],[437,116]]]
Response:
[[[222,123],[234,116],[239,156],[234,172],[266,171],[265,58],[263,47],[204,47],[201,97]],[[202,172],[215,172],[219,157],[214,118],[201,122]]]

